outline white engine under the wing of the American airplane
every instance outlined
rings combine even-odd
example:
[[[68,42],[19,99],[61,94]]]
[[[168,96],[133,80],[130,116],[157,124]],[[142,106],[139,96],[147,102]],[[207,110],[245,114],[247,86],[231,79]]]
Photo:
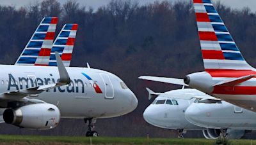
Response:
[[[47,130],[60,122],[60,109],[47,103],[31,104],[19,109],[6,109],[3,118],[5,123],[17,127]]]

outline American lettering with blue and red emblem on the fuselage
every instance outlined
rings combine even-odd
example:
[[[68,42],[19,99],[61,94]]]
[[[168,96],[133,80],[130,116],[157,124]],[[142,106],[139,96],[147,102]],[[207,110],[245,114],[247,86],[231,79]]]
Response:
[[[84,73],[82,73],[82,74],[84,75]],[[28,88],[34,88],[36,86],[43,86],[43,85],[49,85],[52,83],[57,83],[59,81],[59,79],[57,79],[57,80],[54,79],[52,74],[49,74],[49,76],[50,76],[49,78],[19,77],[17,79],[15,79],[15,77],[12,74],[8,74],[8,75],[9,75],[8,88],[7,88],[8,91],[13,88],[16,90],[24,90],[24,89],[28,89]],[[92,78],[89,80],[90,80],[90,83],[88,85],[93,86],[96,93],[102,93],[102,91],[100,90],[99,85],[97,85],[96,81],[93,81]],[[85,92],[85,87],[87,86],[87,83],[84,83],[84,81],[82,79],[73,79],[70,81],[71,81],[70,84],[67,86],[59,86],[57,88],[52,88],[53,92],[57,92],[57,90],[61,93],[63,93],[63,92],[84,93]]]

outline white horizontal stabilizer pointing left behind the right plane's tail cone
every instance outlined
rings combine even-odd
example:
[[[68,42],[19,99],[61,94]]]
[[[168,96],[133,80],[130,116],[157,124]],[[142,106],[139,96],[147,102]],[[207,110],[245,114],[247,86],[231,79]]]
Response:
[[[139,79],[145,79],[148,81],[158,81],[162,83],[171,83],[174,85],[188,86],[184,83],[183,79],[177,79],[177,78],[165,78],[165,77],[158,77],[158,76],[140,76]]]

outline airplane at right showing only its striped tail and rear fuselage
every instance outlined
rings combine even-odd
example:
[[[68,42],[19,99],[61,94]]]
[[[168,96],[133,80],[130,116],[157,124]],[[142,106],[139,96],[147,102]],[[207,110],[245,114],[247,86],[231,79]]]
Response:
[[[255,68],[244,60],[211,1],[193,2],[205,71],[188,74],[184,83],[256,112]]]

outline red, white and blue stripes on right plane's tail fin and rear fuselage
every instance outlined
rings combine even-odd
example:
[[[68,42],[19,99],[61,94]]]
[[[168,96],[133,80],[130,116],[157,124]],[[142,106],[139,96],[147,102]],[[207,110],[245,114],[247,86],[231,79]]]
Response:
[[[212,81],[219,83],[256,74],[244,60],[211,1],[193,1],[204,67]],[[252,99],[256,95],[255,81],[252,78],[237,85],[216,85],[211,94],[224,100]]]

